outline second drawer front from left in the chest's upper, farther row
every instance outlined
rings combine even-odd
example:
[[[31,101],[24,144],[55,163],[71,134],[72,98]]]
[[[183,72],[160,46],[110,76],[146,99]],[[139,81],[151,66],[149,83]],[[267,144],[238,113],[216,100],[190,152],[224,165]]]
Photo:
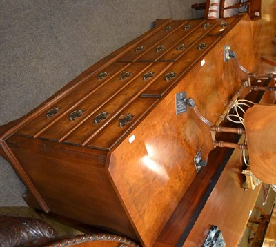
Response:
[[[135,59],[135,61],[157,61],[159,57],[162,57],[173,46],[175,46],[179,40],[184,39],[193,30],[196,30],[198,26],[203,25],[206,22],[204,20],[191,20],[184,23],[181,28],[172,32],[166,39],[157,43],[153,48],[150,48],[144,55]],[[207,29],[204,29],[207,30]],[[206,31],[207,32],[207,31]]]

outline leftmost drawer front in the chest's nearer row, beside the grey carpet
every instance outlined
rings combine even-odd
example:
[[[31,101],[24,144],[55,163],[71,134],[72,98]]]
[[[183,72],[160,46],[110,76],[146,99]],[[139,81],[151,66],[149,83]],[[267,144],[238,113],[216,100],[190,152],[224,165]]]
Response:
[[[70,88],[64,95],[59,95],[56,98],[57,100],[46,105],[45,110],[34,117],[30,123],[23,126],[19,133],[36,137],[44,128],[54,124],[60,117],[67,114],[68,110],[74,108],[77,103],[89,97],[92,92],[105,83],[108,83],[110,79],[116,77],[127,66],[129,66],[129,63],[116,63],[97,74],[83,78],[77,86]]]

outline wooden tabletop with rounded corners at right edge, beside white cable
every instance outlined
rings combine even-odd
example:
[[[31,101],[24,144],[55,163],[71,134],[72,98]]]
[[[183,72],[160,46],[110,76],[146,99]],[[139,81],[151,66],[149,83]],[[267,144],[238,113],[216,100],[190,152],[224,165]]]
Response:
[[[253,174],[276,184],[276,105],[255,104],[244,115],[248,155]]]

